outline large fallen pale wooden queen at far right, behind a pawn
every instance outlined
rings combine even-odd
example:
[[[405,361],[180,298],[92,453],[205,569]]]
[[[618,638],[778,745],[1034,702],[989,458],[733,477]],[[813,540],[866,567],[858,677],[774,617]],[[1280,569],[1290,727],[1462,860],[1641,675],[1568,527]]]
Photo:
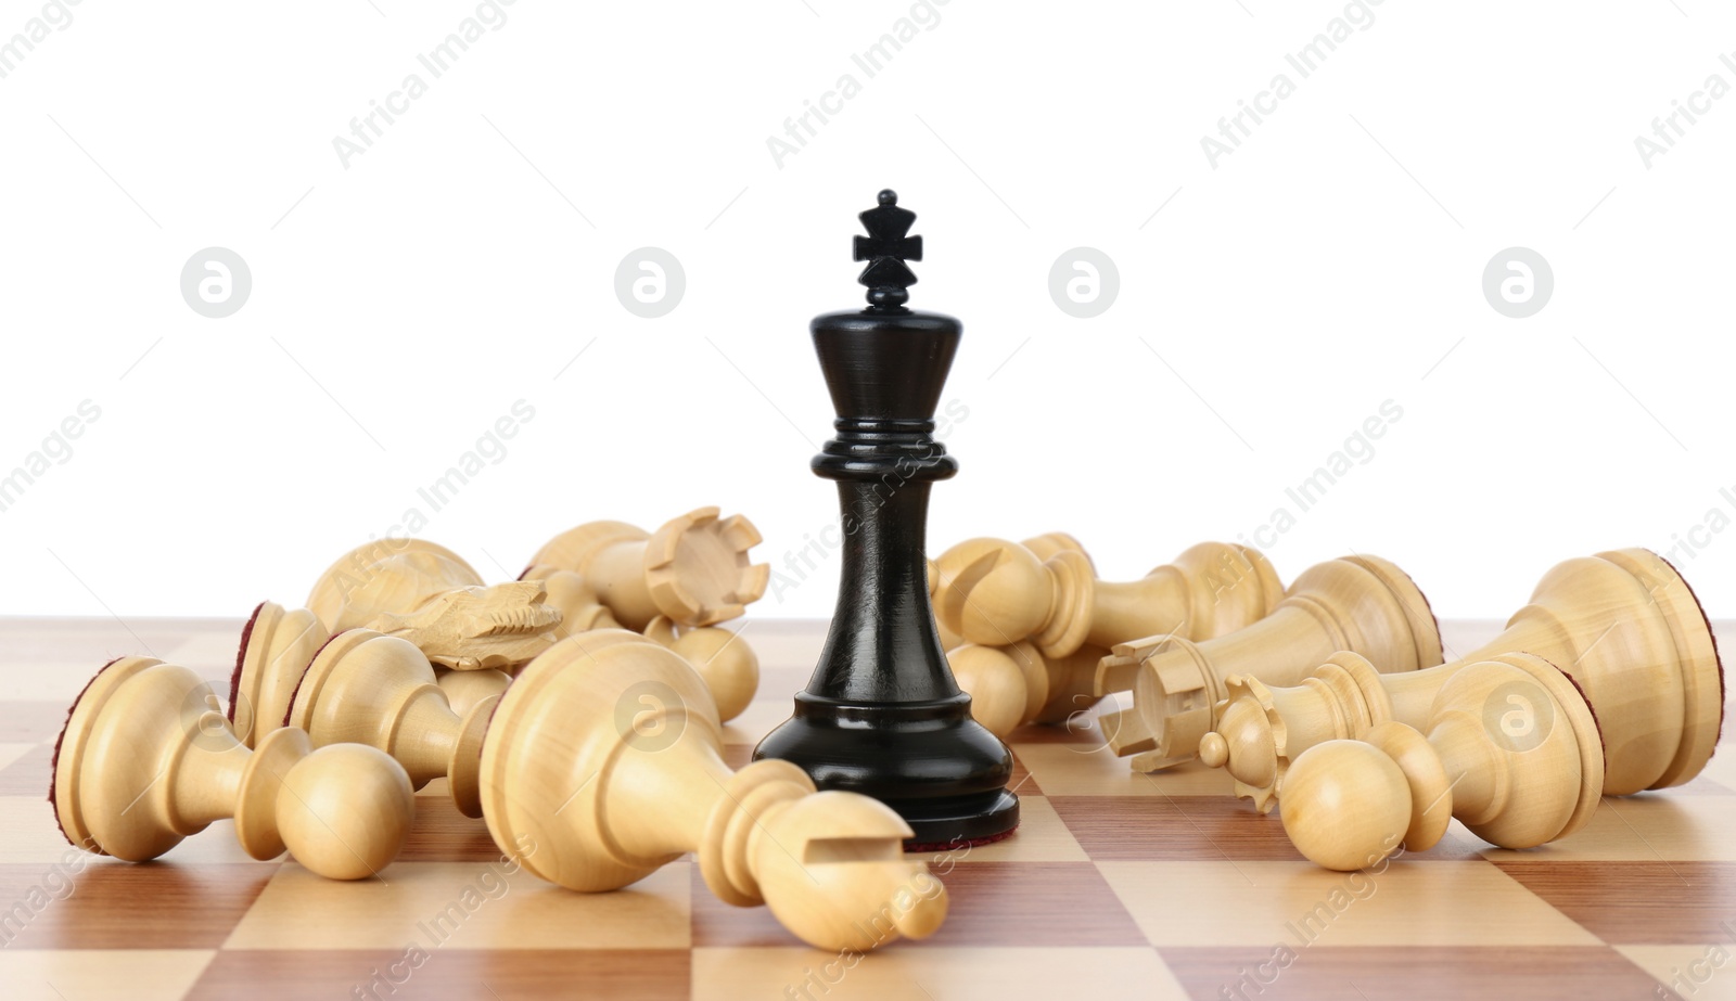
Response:
[[[1450,664],[1377,673],[1337,652],[1290,685],[1227,678],[1203,756],[1266,812],[1309,748],[1385,720],[1420,725],[1457,671],[1510,651],[1549,658],[1583,689],[1602,725],[1606,796],[1679,786],[1712,756],[1724,718],[1717,640],[1687,581],[1642,548],[1557,564],[1500,637]]]

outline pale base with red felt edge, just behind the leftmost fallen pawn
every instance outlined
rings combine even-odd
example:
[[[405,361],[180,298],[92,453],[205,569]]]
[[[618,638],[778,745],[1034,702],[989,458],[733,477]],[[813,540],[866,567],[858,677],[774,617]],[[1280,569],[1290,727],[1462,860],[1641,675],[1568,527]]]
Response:
[[[253,609],[229,675],[229,723],[236,739],[252,748],[283,727],[302,671],[330,638],[307,609],[286,611],[276,602]]]

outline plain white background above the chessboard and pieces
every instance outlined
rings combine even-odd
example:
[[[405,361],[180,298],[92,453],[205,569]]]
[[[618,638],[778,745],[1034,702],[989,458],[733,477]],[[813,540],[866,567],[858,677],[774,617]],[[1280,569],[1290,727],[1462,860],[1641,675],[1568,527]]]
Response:
[[[0,36],[40,10],[0,3]],[[1649,168],[1634,144],[1736,85],[1715,3],[1385,0],[1302,80],[1285,54],[1342,3],[951,0],[866,78],[851,54],[910,3],[517,0],[431,78],[474,10],[83,0],[0,80],[0,472],[101,408],[0,514],[0,612],[299,602],[411,507],[512,576],[571,524],[715,503],[790,574],[837,517],[807,321],[861,304],[849,238],[885,186],[927,238],[911,305],[965,323],[934,550],[1062,529],[1127,578],[1252,540],[1389,399],[1373,458],[1276,538],[1285,579],[1373,552],[1443,616],[1505,616],[1559,559],[1736,517],[1736,97]],[[408,73],[427,94],[345,168],[333,137]],[[844,73],[861,92],[778,165]],[[1295,94],[1213,168],[1201,137],[1276,73]],[[179,291],[205,246],[252,267],[226,319]],[[661,319],[615,297],[641,246],[686,271]],[[1049,297],[1073,246],[1120,269],[1094,319]],[[1483,297],[1509,246],[1554,269],[1529,319]],[[431,514],[417,487],[521,399]],[[1736,533],[1694,538],[1677,562],[1736,614]],[[752,614],[830,614],[835,585],[832,553]]]

